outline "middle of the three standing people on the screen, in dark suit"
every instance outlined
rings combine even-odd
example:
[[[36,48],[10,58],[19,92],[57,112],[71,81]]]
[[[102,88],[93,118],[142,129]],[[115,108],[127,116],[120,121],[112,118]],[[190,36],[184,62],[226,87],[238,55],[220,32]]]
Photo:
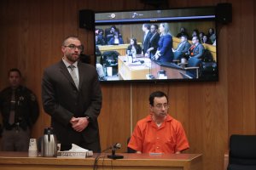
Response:
[[[152,33],[152,37],[149,40],[149,48],[148,48],[145,56],[152,59],[154,57],[154,54],[156,53],[157,48],[158,48],[160,34],[158,33],[158,26],[155,24],[150,26],[150,31]]]

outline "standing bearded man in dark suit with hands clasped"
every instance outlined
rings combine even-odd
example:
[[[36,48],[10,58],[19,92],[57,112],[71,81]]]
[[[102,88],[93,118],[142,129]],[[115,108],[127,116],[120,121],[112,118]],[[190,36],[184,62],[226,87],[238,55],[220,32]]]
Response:
[[[51,116],[51,126],[61,143],[61,150],[78,144],[100,152],[97,116],[102,108],[102,90],[96,68],[79,62],[82,50],[78,37],[64,40],[61,61],[44,70],[43,106]]]

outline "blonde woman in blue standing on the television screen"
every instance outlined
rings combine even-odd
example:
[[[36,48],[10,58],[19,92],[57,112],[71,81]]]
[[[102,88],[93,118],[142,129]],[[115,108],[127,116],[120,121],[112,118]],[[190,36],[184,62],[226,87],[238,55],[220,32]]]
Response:
[[[160,40],[158,48],[154,54],[155,60],[172,62],[174,54],[172,52],[172,35],[167,23],[160,23]]]

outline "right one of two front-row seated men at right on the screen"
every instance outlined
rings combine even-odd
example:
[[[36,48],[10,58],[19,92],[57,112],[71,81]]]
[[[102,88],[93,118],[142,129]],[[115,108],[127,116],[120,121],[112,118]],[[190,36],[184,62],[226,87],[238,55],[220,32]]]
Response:
[[[199,37],[192,37],[192,45],[188,50],[189,58],[195,57],[198,59],[202,59],[203,54],[205,52],[204,46],[199,42]],[[188,58],[188,59],[189,59]]]

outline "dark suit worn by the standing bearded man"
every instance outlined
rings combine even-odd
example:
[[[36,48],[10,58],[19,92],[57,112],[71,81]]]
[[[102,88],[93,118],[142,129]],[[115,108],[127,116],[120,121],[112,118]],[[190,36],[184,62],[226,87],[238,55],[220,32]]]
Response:
[[[102,90],[92,65],[78,63],[79,89],[61,60],[44,70],[42,99],[44,111],[51,116],[51,126],[61,144],[78,144],[100,152],[97,116],[102,108]],[[73,130],[69,121],[75,117],[90,117],[83,132]]]

